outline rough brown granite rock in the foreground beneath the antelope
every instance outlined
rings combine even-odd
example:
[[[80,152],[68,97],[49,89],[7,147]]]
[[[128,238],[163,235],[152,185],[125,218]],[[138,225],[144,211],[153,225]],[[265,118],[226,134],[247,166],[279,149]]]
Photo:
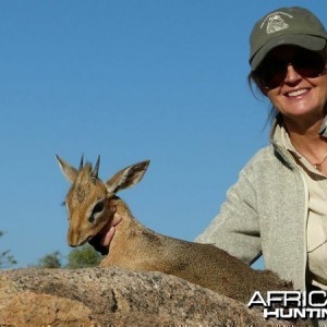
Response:
[[[120,268],[0,272],[0,326],[282,326],[161,272]],[[287,326],[287,325],[283,325]]]

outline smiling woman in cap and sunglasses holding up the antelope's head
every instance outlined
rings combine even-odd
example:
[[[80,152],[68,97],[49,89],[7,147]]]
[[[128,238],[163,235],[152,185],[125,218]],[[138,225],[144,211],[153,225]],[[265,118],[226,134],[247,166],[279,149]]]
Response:
[[[271,145],[241,171],[196,239],[249,264],[263,255],[301,290],[327,290],[326,40],[322,23],[302,8],[278,9],[255,24],[250,81],[276,112]]]

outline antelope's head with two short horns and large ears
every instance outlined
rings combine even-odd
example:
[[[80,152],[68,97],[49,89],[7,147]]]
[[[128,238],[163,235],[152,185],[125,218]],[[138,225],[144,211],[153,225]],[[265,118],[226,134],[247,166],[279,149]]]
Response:
[[[116,193],[137,184],[149,165],[149,160],[137,162],[102,182],[98,178],[100,157],[93,168],[89,162],[84,165],[82,156],[78,169],[56,157],[63,174],[72,183],[65,197],[68,243],[71,246],[83,245],[102,232],[113,218]]]

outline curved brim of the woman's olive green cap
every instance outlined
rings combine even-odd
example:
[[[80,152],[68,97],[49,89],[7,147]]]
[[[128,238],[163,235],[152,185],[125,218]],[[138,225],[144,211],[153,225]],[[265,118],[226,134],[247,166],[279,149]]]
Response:
[[[276,47],[283,45],[292,45],[305,48],[312,51],[320,51],[325,48],[326,39],[323,37],[317,37],[313,35],[305,34],[290,34],[276,36],[274,39],[265,44],[252,57],[250,64],[252,71],[256,70],[264,58],[269,51]]]

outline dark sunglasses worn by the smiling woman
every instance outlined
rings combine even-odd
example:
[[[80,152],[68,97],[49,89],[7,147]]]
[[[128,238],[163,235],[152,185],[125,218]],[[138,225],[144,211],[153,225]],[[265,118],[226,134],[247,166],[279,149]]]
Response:
[[[264,88],[271,89],[284,81],[290,64],[302,77],[308,78],[320,76],[326,68],[322,53],[299,49],[284,60],[268,55],[254,73]]]

